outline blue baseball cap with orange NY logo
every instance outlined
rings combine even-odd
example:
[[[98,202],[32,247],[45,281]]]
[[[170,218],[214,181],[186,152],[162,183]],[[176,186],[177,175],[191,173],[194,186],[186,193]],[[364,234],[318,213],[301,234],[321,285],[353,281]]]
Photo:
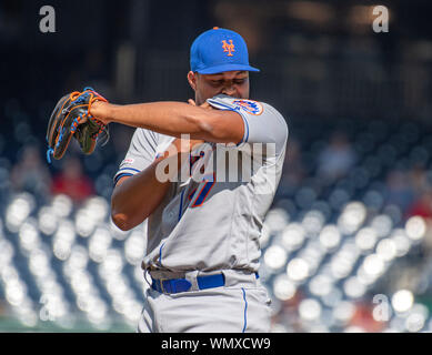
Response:
[[[214,27],[201,33],[191,47],[191,70],[200,74],[224,71],[260,71],[249,65],[248,45],[243,38],[231,30]]]

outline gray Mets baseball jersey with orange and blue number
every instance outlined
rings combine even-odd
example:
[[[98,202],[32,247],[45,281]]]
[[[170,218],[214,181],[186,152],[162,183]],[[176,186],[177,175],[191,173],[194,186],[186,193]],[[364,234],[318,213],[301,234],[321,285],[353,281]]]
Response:
[[[244,136],[237,144],[204,143],[191,152],[182,166],[187,179],[171,183],[148,219],[148,270],[259,268],[261,227],[281,178],[288,126],[263,102],[227,95],[208,102],[238,112]],[[144,170],[173,140],[137,129],[114,183]]]

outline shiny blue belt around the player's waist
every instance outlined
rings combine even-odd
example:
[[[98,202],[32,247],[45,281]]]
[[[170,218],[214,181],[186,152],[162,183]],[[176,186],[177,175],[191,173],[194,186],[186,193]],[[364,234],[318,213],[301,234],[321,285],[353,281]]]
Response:
[[[255,273],[255,277],[259,275]],[[185,278],[151,278],[151,287],[159,293],[180,293],[187,292],[192,287],[189,280]],[[199,290],[221,287],[225,284],[225,276],[223,274],[198,276],[197,284]]]

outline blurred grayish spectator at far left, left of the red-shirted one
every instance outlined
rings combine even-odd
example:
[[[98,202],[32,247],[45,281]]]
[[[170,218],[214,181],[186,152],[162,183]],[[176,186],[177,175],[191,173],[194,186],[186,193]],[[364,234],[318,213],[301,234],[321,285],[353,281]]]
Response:
[[[39,150],[34,145],[23,148],[11,170],[10,181],[16,192],[27,191],[40,200],[49,196],[51,175],[48,168],[42,164]]]

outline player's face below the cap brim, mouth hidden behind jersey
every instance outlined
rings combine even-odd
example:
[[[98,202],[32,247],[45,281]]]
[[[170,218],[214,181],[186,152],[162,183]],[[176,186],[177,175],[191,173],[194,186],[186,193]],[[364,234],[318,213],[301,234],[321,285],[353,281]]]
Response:
[[[197,104],[223,93],[239,99],[249,99],[249,72],[225,71],[218,74],[199,74],[190,71],[188,80],[195,91]]]

